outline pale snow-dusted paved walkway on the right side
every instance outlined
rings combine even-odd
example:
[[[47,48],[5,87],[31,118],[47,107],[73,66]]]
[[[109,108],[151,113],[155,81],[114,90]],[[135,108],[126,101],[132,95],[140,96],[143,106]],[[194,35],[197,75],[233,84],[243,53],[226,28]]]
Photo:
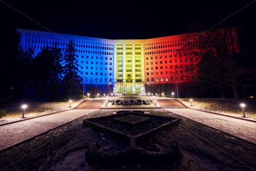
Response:
[[[256,144],[256,123],[191,109],[165,109]]]

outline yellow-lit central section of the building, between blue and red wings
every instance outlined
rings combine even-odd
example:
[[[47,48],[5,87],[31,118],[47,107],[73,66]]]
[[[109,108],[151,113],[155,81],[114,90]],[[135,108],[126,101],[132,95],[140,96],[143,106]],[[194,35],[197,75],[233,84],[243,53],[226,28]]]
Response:
[[[144,44],[138,40],[115,43],[114,93],[144,93]]]

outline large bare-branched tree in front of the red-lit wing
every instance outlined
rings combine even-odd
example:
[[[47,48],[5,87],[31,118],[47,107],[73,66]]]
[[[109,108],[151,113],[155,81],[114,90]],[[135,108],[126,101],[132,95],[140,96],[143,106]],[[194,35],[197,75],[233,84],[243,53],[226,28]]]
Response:
[[[225,28],[189,35],[186,48],[190,62],[186,71],[197,74],[201,82],[218,86],[222,97],[223,86],[232,88],[235,99],[239,98],[238,85],[256,78],[246,53],[239,48],[238,29]]]

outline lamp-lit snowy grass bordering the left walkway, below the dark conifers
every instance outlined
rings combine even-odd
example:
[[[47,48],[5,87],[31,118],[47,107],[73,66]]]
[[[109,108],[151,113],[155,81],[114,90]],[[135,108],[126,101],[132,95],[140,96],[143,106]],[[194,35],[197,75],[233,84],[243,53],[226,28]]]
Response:
[[[78,100],[73,100],[71,104],[76,103]],[[7,115],[2,118],[15,118],[22,115],[22,109],[20,106],[21,102],[4,102],[0,103],[0,110],[5,110]],[[26,110],[26,115],[41,113],[48,110],[55,110],[57,108],[68,108],[69,102],[42,102],[42,101],[30,101],[26,103],[28,109]]]

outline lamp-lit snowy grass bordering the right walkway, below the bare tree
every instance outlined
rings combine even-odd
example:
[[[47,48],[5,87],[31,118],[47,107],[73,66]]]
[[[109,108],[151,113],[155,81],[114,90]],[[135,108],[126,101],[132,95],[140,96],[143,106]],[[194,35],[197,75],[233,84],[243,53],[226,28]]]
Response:
[[[182,101],[190,104],[190,98],[181,98]],[[210,98],[193,98],[193,106],[201,108],[202,110],[210,110],[216,112],[230,113],[242,116],[242,109],[240,103],[245,103],[246,117],[256,119],[256,100],[241,100],[233,99],[210,99]]]

